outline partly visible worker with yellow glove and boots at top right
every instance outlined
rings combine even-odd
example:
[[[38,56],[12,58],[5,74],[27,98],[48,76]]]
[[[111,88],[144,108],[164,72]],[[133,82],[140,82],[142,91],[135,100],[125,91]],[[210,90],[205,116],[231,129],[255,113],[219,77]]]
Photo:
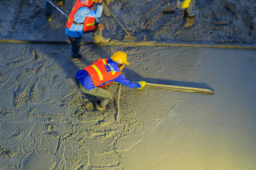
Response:
[[[196,10],[195,10],[195,1],[196,0],[178,0],[177,7],[182,11],[182,17],[186,17],[186,23],[183,25],[184,28],[188,28],[195,22],[196,19]]]

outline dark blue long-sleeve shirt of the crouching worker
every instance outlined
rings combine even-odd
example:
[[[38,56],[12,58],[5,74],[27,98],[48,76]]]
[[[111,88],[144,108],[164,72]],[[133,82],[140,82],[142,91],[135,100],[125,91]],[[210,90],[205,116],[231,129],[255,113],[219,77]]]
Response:
[[[108,60],[108,64],[110,64],[115,71],[117,71],[117,72],[120,71],[120,69],[117,65],[118,63],[113,61],[112,59]],[[106,67],[106,70],[109,72],[110,67],[108,65],[106,65],[105,67]],[[84,88],[86,88],[86,90],[92,90],[94,87],[96,87],[96,86],[94,86],[92,78],[90,78],[89,73],[87,71],[85,71],[84,69],[77,71],[76,78],[79,80],[79,82],[82,84],[82,86],[84,86]],[[123,84],[124,86],[130,87],[130,88],[141,87],[141,84],[127,80],[125,78],[125,75],[123,75],[123,74],[120,74],[117,78],[110,80],[108,82],[105,82],[105,83],[107,84],[112,81]],[[101,86],[102,84],[100,84],[99,86]]]

